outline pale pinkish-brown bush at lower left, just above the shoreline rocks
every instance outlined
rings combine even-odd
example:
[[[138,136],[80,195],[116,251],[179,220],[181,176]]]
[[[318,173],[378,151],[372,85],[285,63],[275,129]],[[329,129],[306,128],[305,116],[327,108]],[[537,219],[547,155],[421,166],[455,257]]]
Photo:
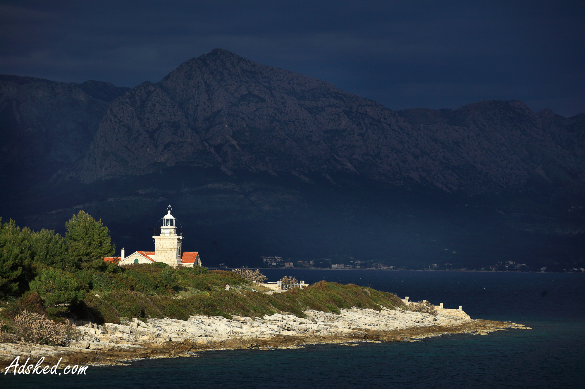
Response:
[[[22,336],[25,342],[39,345],[65,345],[67,341],[78,338],[78,331],[74,325],[67,323],[57,324],[35,312],[23,311],[14,318],[17,335]]]

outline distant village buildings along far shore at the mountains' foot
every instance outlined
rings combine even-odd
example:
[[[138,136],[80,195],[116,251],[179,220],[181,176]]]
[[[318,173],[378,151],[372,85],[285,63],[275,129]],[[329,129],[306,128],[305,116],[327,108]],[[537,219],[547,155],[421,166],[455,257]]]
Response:
[[[378,270],[452,270],[459,272],[547,272],[546,267],[528,268],[526,263],[516,263],[512,261],[500,261],[494,265],[484,268],[459,268],[453,263],[431,263],[428,267],[415,269],[408,266],[393,266],[376,261],[360,261],[351,256],[342,256],[342,258],[320,258],[304,261],[292,261],[290,258],[281,256],[261,256],[265,268],[279,269],[378,269]],[[221,264],[225,265],[225,264]],[[585,268],[563,269],[567,273],[585,273]]]

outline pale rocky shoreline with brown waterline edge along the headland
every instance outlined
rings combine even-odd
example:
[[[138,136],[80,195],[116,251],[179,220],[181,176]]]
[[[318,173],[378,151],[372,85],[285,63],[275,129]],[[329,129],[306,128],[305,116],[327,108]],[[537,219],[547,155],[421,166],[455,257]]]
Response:
[[[0,367],[16,356],[43,364],[126,364],[143,358],[189,357],[205,350],[301,348],[316,343],[413,341],[442,334],[480,334],[521,324],[472,319],[465,312],[439,310],[436,317],[401,309],[381,311],[351,308],[340,314],[305,311],[307,318],[274,314],[264,317],[191,316],[177,319],[133,319],[125,325],[85,323],[81,339],[67,346],[0,343]],[[452,310],[455,311],[455,310]],[[32,363],[32,362],[29,362]]]

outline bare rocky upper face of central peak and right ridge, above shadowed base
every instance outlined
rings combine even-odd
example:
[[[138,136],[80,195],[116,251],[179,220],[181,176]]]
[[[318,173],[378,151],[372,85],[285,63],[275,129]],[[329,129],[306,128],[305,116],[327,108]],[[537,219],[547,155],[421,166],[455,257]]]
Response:
[[[583,120],[568,120],[580,123],[571,132],[563,119],[518,100],[393,112],[215,49],[115,100],[71,175],[89,183],[191,165],[301,178],[348,172],[467,194],[521,189],[532,178],[581,187],[573,138],[583,139]]]

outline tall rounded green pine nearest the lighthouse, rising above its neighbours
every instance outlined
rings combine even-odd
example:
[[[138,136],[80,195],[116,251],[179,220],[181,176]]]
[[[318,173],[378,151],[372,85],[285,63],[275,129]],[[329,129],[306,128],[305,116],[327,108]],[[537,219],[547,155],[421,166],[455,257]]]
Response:
[[[65,242],[69,256],[81,269],[91,268],[94,261],[111,256],[116,252],[116,245],[112,245],[108,227],[102,225],[102,221],[96,221],[90,214],[83,210],[73,215],[71,220],[65,223],[67,232]]]

